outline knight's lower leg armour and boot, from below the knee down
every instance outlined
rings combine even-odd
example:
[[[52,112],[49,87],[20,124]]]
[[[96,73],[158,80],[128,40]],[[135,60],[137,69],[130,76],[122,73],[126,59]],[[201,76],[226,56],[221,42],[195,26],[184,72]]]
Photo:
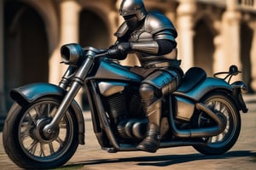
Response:
[[[146,138],[137,145],[137,149],[154,153],[160,146],[161,99],[145,109],[148,116],[148,131]]]

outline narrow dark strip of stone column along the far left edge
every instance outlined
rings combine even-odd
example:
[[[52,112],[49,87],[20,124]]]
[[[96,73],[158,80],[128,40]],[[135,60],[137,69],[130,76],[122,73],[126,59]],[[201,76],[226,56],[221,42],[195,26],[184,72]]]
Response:
[[[0,1],[0,124],[1,118],[6,116],[3,61],[3,1]]]

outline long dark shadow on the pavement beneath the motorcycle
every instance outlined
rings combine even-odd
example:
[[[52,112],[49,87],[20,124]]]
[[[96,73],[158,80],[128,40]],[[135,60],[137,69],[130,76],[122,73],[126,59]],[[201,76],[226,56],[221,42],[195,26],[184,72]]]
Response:
[[[219,156],[204,156],[201,154],[188,154],[188,155],[164,155],[164,156],[135,156],[120,159],[98,159],[93,161],[80,161],[72,165],[66,165],[63,167],[75,167],[75,166],[86,166],[96,164],[108,164],[116,162],[133,161],[137,162],[138,166],[156,166],[166,167],[178,163],[189,162],[189,161],[200,161],[209,159],[228,159],[232,157],[251,157],[248,161],[255,161],[256,163],[256,152],[250,150],[234,150],[227,152]]]

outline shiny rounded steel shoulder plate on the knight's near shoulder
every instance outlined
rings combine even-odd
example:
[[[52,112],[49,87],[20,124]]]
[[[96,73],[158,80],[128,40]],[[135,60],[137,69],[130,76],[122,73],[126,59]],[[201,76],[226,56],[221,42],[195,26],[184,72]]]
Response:
[[[156,11],[148,13],[145,19],[144,30],[153,35],[159,31],[171,30],[172,36],[174,38],[177,37],[177,31],[173,26],[172,21],[164,14],[160,14]]]

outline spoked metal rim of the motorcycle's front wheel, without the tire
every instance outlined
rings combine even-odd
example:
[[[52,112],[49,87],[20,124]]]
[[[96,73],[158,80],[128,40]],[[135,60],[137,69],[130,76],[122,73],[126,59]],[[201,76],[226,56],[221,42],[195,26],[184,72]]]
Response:
[[[59,103],[41,101],[32,105],[22,116],[19,126],[21,149],[35,161],[55,161],[63,156],[72,144],[73,119],[69,111],[61,119],[55,133],[45,138],[42,129],[55,115]]]

